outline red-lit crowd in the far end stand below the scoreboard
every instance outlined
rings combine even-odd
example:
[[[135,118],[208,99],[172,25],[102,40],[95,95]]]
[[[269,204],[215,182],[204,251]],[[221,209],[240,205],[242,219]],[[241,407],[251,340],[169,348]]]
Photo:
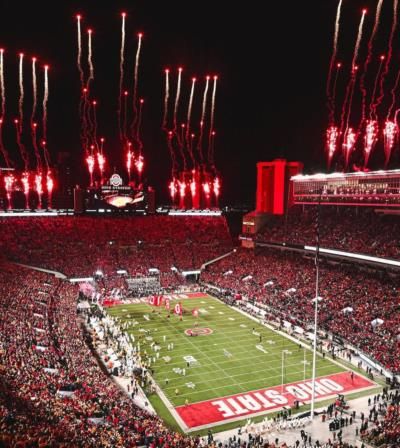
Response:
[[[199,269],[232,247],[224,217],[0,219],[0,252],[67,276]],[[162,275],[163,276],[163,275]],[[168,281],[168,278],[166,279]]]

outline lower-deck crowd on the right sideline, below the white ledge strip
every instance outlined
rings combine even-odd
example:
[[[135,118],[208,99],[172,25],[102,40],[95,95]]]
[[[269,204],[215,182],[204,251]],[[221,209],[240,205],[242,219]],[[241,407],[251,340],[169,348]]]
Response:
[[[297,254],[239,250],[211,265],[202,282],[268,306],[271,318],[307,329],[314,322],[315,263]],[[321,263],[319,326],[400,373],[398,278]]]

